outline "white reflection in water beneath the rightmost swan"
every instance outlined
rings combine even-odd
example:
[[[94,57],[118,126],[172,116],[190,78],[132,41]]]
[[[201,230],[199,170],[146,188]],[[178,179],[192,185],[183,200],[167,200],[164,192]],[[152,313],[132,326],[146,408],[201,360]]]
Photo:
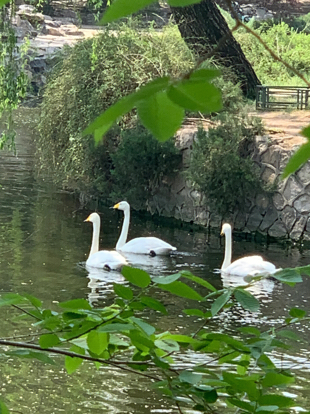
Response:
[[[247,285],[249,282],[244,280],[242,276],[234,276],[232,274],[226,274],[221,272],[221,279],[223,287],[237,287]],[[252,295],[257,298],[267,298],[272,293],[275,287],[275,282],[272,279],[260,279],[253,282],[253,285],[246,288]],[[270,297],[270,300],[272,298]]]

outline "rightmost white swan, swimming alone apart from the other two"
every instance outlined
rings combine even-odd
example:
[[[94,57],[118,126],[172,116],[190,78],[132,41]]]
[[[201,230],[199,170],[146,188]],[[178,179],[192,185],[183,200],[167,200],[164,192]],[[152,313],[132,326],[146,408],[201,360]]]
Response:
[[[277,272],[275,265],[270,262],[265,262],[261,256],[246,256],[235,260],[232,259],[232,228],[230,224],[223,224],[221,235],[225,234],[225,256],[221,267],[221,272],[226,274],[234,274],[236,276],[246,276],[267,272]]]

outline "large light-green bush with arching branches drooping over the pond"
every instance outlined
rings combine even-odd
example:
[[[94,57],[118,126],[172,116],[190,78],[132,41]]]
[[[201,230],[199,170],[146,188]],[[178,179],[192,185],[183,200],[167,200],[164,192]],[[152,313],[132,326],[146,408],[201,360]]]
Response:
[[[104,137],[102,145],[96,148],[93,138],[82,138],[80,132],[121,96],[155,77],[179,77],[192,67],[193,61],[176,26],[168,26],[158,34],[154,30],[141,33],[123,25],[117,36],[115,31],[105,30],[95,39],[65,49],[43,97],[37,138],[40,168],[50,168],[55,180],[70,188],[95,190],[108,196],[115,185],[114,194],[123,192],[123,182],[128,180],[128,176],[116,179],[116,171],[121,173],[118,160],[122,155],[118,156],[115,151],[122,140],[121,130],[133,128],[136,124],[135,113],[121,119],[119,125]],[[140,133],[140,128],[137,132],[128,132],[128,140],[131,137],[135,151],[137,143],[133,137],[136,134],[138,138]],[[155,150],[154,142],[152,145],[148,148],[150,153]],[[168,145],[163,153],[169,159]],[[157,146],[156,151],[162,150]],[[128,154],[134,155],[134,152],[128,149]],[[173,149],[171,156],[174,155]],[[153,158],[149,154],[149,157],[149,173],[152,168],[156,174],[166,171],[166,165],[158,164],[155,155]],[[143,164],[142,158],[140,160]],[[127,165],[133,165],[129,158],[126,161]],[[114,170],[113,177],[110,170]],[[147,176],[139,173],[137,177],[141,180],[135,183],[139,193],[138,188],[147,188]],[[149,179],[153,178],[153,175],[149,176]],[[125,193],[130,197],[129,189]]]

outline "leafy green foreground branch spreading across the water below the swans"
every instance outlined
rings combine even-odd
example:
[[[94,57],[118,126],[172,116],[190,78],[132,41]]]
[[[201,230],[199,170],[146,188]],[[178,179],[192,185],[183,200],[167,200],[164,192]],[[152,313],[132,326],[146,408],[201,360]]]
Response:
[[[217,290],[188,271],[151,277],[144,270],[123,267],[122,274],[130,285],[114,283],[115,301],[103,308],[94,308],[81,298],[59,303],[59,311],[51,311],[29,294],[3,295],[0,306],[26,308],[25,316],[34,321],[33,327],[38,332],[37,335],[33,332],[31,337],[38,337],[38,340],[24,343],[20,348],[20,342],[0,339],[0,344],[6,347],[18,347],[3,351],[2,357],[35,358],[43,363],[54,363],[52,355],[63,354],[69,374],[86,360],[95,363],[96,368],[108,364],[148,376],[151,388],[162,396],[176,403],[182,401],[183,406],[198,412],[211,412],[211,404],[218,401],[239,407],[246,414],[283,412],[295,403],[293,398],[277,392],[277,388],[294,383],[294,376],[288,369],[275,366],[268,354],[273,349],[288,349],[291,341],[302,340],[286,328],[305,320],[304,310],[291,309],[285,325],[266,328],[264,332],[244,326],[237,328],[233,335],[227,335],[206,327],[211,318],[235,304],[256,312],[259,302],[246,289],[265,276],[258,275],[243,286]],[[274,276],[294,285],[301,282],[301,274],[310,275],[310,267],[285,269]],[[169,315],[166,306],[151,295],[154,289],[192,301],[197,307],[183,312],[201,320],[199,330],[180,335],[160,332],[151,325],[150,312],[155,312],[158,318]],[[147,310],[147,320],[144,310]],[[192,368],[178,368],[174,355],[187,349],[204,354],[204,358]],[[208,368],[211,361],[218,361],[218,369]],[[221,364],[225,364],[224,368]],[[149,373],[145,374],[147,370]],[[0,407],[6,412],[3,403]]]

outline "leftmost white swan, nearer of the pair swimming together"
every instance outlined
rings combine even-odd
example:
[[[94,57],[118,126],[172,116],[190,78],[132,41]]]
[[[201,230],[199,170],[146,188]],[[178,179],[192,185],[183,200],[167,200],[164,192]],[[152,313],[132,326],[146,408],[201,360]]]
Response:
[[[100,217],[97,213],[90,214],[86,220],[92,222],[92,247],[86,265],[105,270],[120,270],[123,265],[128,265],[125,258],[112,250],[99,250]]]

